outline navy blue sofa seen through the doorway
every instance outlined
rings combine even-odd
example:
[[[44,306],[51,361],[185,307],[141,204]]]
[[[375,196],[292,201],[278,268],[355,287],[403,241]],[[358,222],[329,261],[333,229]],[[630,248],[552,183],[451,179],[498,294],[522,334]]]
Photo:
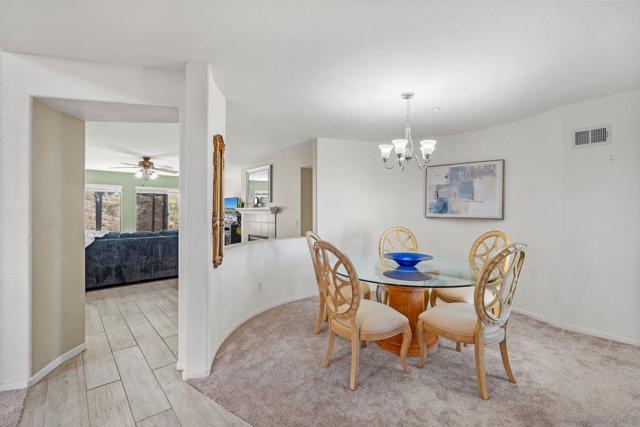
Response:
[[[177,230],[111,232],[85,249],[85,289],[177,276]]]

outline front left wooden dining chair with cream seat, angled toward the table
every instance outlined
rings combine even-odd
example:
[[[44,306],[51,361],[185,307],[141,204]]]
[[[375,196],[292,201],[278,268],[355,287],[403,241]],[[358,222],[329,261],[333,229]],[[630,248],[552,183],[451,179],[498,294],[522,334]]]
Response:
[[[347,258],[331,243],[321,240],[314,244],[320,280],[328,313],[329,338],[322,366],[329,366],[335,336],[351,341],[351,376],[349,388],[358,387],[358,365],[361,342],[378,341],[402,334],[400,361],[409,372],[407,353],[411,344],[409,320],[393,308],[376,301],[360,298],[360,281]]]

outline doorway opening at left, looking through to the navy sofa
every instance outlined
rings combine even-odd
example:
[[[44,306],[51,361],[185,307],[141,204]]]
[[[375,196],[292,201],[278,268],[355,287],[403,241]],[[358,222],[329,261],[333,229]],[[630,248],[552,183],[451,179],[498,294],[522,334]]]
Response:
[[[141,319],[175,362],[178,108],[33,98],[32,116],[31,376],[97,339],[130,348]]]

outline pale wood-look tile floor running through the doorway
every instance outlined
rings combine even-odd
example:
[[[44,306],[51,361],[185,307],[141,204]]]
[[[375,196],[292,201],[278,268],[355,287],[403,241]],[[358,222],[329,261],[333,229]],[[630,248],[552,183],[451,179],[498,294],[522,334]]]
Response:
[[[248,426],[176,370],[178,281],[86,294],[87,350],[29,389],[19,426]]]

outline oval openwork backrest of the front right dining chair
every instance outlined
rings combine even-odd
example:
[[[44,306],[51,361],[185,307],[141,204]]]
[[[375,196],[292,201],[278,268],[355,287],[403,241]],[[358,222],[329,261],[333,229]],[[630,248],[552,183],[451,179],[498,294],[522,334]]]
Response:
[[[498,252],[476,281],[474,306],[480,321],[502,326],[509,320],[527,246],[513,243]]]

